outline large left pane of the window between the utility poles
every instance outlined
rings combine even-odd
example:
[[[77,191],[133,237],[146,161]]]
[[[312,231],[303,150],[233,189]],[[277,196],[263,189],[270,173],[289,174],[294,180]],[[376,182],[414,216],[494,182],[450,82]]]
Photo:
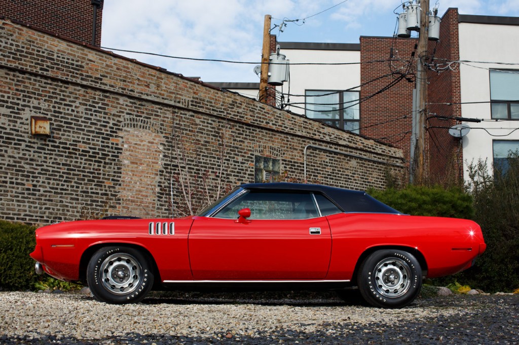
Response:
[[[311,119],[339,119],[339,94],[333,91],[306,91],[306,116]],[[321,96],[321,95],[325,96]]]

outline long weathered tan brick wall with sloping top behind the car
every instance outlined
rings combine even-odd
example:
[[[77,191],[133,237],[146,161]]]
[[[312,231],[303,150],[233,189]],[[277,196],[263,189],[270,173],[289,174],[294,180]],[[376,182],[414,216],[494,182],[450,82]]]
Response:
[[[311,181],[384,188],[388,169],[403,170],[397,148],[154,66],[6,20],[0,40],[0,217],[7,220],[50,223],[105,208],[167,217],[171,186],[179,214],[183,178],[214,196],[220,181],[254,181],[255,155],[305,180],[308,145]],[[31,136],[31,116],[50,119],[50,136]]]

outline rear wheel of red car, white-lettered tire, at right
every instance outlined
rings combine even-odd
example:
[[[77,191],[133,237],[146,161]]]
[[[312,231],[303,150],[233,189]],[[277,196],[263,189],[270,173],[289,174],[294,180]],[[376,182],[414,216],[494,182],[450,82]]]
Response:
[[[379,250],[368,256],[358,273],[362,297],[375,307],[402,308],[418,296],[422,275],[418,260],[402,250]]]

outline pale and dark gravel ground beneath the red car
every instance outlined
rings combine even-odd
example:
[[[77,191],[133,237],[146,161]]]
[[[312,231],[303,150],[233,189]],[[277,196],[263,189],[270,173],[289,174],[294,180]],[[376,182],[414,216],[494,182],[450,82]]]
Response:
[[[77,293],[0,292],[0,343],[518,344],[519,295],[419,298],[404,309],[334,293],[154,293],[115,306]]]

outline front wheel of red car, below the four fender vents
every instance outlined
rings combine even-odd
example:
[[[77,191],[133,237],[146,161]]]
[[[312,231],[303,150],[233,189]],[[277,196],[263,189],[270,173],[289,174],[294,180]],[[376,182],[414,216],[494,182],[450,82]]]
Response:
[[[124,246],[104,247],[92,255],[87,282],[94,297],[111,304],[138,303],[153,285],[147,255]]]

